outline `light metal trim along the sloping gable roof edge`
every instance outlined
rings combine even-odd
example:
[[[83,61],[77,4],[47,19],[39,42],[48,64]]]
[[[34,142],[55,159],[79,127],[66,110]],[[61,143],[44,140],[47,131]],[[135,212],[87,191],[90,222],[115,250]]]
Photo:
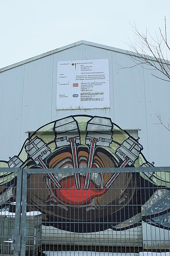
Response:
[[[57,48],[57,49],[51,50],[51,51],[49,51],[49,52],[46,52],[46,53],[43,53],[43,54],[40,54],[40,55],[36,55],[36,56],[34,56],[34,57],[31,57],[31,58],[28,58],[28,59],[26,59],[26,60],[17,62],[17,63],[15,63],[15,64],[11,64],[11,65],[9,65],[9,66],[0,68],[0,73],[1,73],[1,72],[4,72],[4,71],[6,71],[6,70],[9,70],[9,69],[15,68],[15,67],[17,67],[17,66],[27,64],[27,63],[32,62],[32,61],[34,61],[34,60],[38,60],[38,59],[41,59],[41,58],[43,58],[43,57],[46,57],[46,56],[49,56],[49,55],[52,55],[52,54],[55,54],[55,53],[58,53],[58,52],[67,50],[67,49],[69,49],[69,48],[71,48],[71,47],[75,47],[75,46],[82,45],[82,44],[83,44],[83,45],[88,45],[88,46],[93,46],[93,47],[102,48],[102,49],[109,50],[109,51],[113,51],[113,52],[118,52],[118,53],[121,53],[121,54],[133,55],[133,56],[136,56],[136,57],[137,57],[137,54],[134,53],[134,52],[131,52],[131,51],[127,51],[127,50],[115,48],[115,47],[112,47],[112,46],[105,46],[105,45],[101,45],[101,44],[97,44],[97,43],[93,43],[93,42],[89,42],[89,41],[85,41],[85,40],[80,40],[80,41],[77,41],[77,42],[75,42],[75,43],[69,44],[69,45],[67,45],[67,46],[62,46],[62,47],[59,47],[59,48]],[[151,57],[151,56],[149,56],[149,55],[148,55],[148,59],[155,61],[155,60],[153,59],[153,57]],[[167,60],[167,63],[170,64],[170,61]]]

